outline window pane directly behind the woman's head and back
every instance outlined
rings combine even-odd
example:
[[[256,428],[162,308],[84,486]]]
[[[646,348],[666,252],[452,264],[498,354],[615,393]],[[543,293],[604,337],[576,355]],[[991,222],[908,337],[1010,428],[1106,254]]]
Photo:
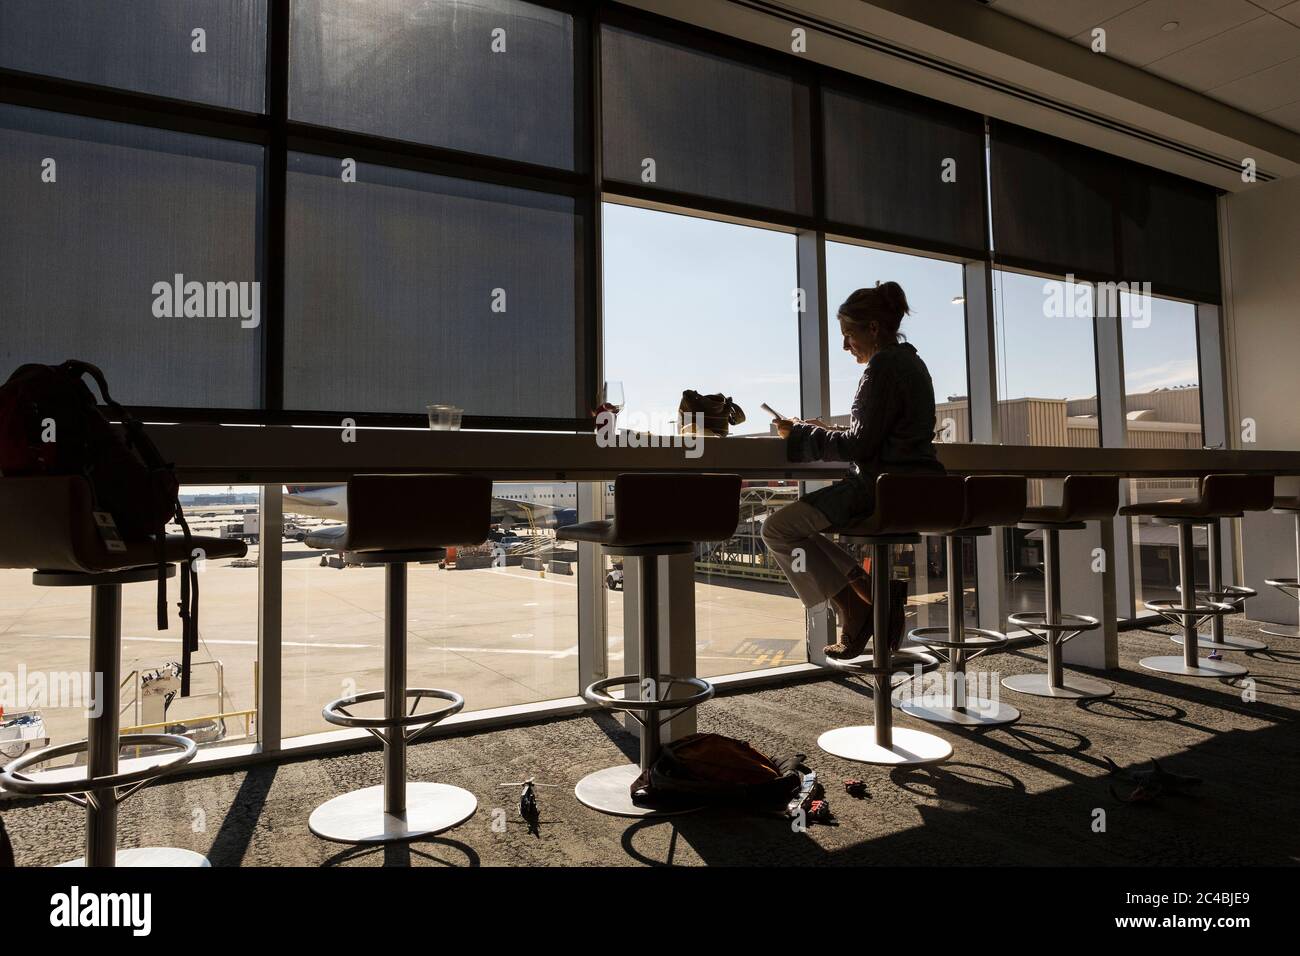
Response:
[[[848,423],[853,395],[862,377],[862,365],[844,350],[836,310],[855,289],[890,281],[901,285],[907,294],[911,315],[902,320],[901,330],[916,346],[935,382],[936,437],[940,441],[970,441],[961,264],[845,242],[826,245],[833,421]]]

